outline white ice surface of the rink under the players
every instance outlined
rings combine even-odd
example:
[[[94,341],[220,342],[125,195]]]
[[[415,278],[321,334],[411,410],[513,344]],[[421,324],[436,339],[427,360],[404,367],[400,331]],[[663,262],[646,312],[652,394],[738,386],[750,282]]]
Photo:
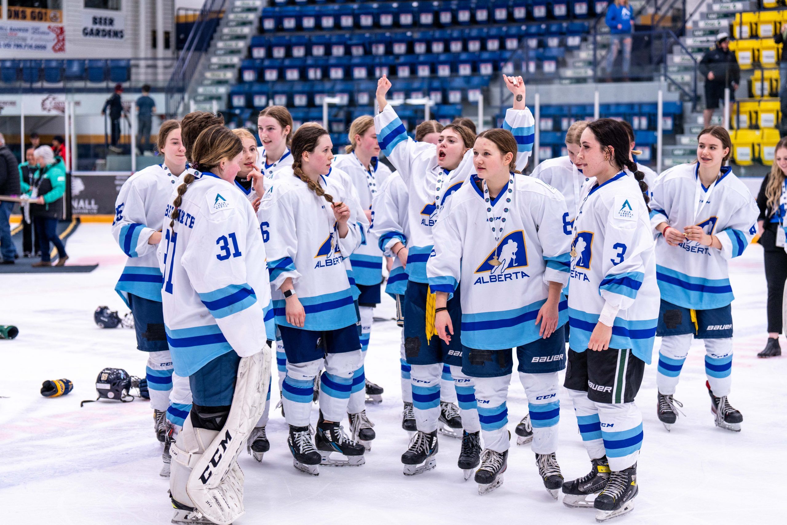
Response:
[[[169,523],[168,479],[158,476],[161,445],[146,401],[94,399],[105,367],[144,375],[146,356],[134,331],[102,330],[98,305],[127,309],[113,288],[124,255],[108,224],[83,224],[68,240],[69,263],[100,265],[86,274],[0,274],[0,324],[20,335],[0,341],[0,523],[108,525]],[[743,431],[716,428],[705,388],[704,349],[695,344],[676,397],[685,417],[667,433],[656,418],[656,364],[648,366],[637,405],[645,418],[634,512],[615,523],[785,523],[787,482],[787,357],[762,360],[766,341],[763,251],[749,246],[731,264],[735,358],[730,402],[744,415]],[[376,317],[390,319],[385,298]],[[784,344],[784,338],[781,339]],[[658,352],[656,341],[654,356]],[[275,370],[275,364],[274,364]],[[407,447],[401,429],[399,328],[379,321],[366,361],[369,379],[385,387],[382,405],[368,406],[377,439],[360,468],[323,467],[319,477],[296,471],[286,448],[286,424],[272,411],[271,451],[257,464],[245,451],[246,516],[252,523],[595,523],[592,510],[554,501],[538,477],[529,446],[508,458],[501,488],[480,497],[456,467],[460,442],[440,438],[438,467],[412,478],[401,471]],[[275,377],[275,375],[274,375]],[[65,397],[39,394],[45,379],[71,379]],[[279,393],[274,387],[272,405]],[[589,460],[571,401],[561,394],[557,458],[567,479],[586,474]],[[522,386],[512,384],[509,425],[525,414]],[[312,411],[316,420],[316,407]],[[778,518],[778,516],[782,516]]]

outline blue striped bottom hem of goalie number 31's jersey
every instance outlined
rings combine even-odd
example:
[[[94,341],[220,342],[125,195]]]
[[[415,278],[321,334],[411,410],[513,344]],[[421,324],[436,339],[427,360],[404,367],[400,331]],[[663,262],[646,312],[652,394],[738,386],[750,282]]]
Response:
[[[209,361],[232,351],[230,343],[217,324],[177,330],[170,330],[164,325],[164,329],[167,331],[167,343],[169,351],[172,352],[175,373],[181,377],[194,374]]]

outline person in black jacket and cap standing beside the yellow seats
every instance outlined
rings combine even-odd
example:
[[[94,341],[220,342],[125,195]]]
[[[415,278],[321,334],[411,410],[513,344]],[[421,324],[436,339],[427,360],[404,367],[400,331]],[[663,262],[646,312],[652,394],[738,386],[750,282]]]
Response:
[[[711,125],[715,109],[719,109],[719,101],[724,100],[724,89],[730,88],[730,115],[733,114],[735,90],[741,83],[741,68],[737,58],[730,51],[730,35],[719,33],[716,36],[714,49],[704,54],[700,60],[700,75],[705,79],[705,111],[703,112],[705,128]]]

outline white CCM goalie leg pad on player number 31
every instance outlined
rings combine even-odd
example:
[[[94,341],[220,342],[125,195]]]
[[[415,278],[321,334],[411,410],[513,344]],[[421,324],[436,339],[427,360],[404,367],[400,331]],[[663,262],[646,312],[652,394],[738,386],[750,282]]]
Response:
[[[238,453],[260,419],[271,378],[271,349],[242,357],[227,423],[194,464],[186,492],[194,507],[218,525],[243,515],[243,473]]]

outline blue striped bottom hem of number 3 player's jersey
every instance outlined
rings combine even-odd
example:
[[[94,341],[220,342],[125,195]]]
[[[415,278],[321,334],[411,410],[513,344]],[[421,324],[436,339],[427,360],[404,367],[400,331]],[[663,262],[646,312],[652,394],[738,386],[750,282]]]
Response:
[[[653,341],[656,338],[658,319],[624,320],[615,317],[612,326],[610,348],[630,348],[635,356],[650,364]],[[598,314],[568,309],[568,325],[571,327],[569,346],[575,352],[584,352],[590,341],[590,334],[598,324]]]

